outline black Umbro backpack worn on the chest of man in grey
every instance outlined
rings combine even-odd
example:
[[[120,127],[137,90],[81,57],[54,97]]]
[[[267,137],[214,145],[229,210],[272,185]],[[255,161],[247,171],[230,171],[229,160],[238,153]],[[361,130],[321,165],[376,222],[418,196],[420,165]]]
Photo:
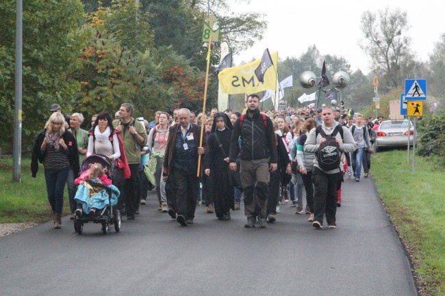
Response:
[[[338,144],[335,142],[335,135],[340,133],[340,136],[343,139],[342,126],[335,126],[335,129],[332,131],[331,135],[327,135],[325,131],[323,131],[322,126],[319,125],[315,130],[316,139],[318,137],[318,133],[320,133],[320,135],[326,139],[325,142],[320,144],[320,147],[316,152],[318,166],[325,172],[338,169],[342,159],[340,158],[341,152],[338,148]]]

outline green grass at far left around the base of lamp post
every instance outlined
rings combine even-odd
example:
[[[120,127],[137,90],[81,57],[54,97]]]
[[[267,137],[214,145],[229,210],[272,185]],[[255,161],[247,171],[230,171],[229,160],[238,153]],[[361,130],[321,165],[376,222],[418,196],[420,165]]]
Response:
[[[21,183],[12,181],[12,157],[0,159],[0,223],[36,222],[53,219],[47,198],[43,166],[40,164],[37,178],[31,177],[31,159],[23,158]],[[64,214],[68,215],[68,193],[65,189]]]

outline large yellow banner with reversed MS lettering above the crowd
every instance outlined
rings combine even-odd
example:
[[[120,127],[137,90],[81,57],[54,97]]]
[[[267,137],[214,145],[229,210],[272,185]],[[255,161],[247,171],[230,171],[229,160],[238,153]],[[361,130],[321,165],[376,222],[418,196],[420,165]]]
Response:
[[[269,67],[264,74],[264,83],[259,82],[255,76],[255,69],[261,59],[234,68],[226,68],[218,75],[221,90],[226,94],[252,94],[263,90],[277,89],[278,52],[272,53],[272,62],[275,66]]]

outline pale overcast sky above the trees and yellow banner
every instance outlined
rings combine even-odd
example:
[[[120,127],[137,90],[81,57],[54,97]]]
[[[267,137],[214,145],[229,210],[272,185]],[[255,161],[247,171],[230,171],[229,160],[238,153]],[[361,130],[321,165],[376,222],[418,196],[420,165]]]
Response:
[[[236,0],[230,2],[233,12],[261,12],[266,14],[268,21],[263,40],[234,57],[236,65],[261,58],[266,48],[270,53],[278,51],[279,57],[284,59],[300,57],[315,44],[321,55],[342,56],[351,64],[351,70],[360,68],[367,73],[372,70],[370,61],[358,46],[363,38],[360,17],[366,10],[377,12],[389,7],[406,11],[411,25],[410,46],[423,62],[428,60],[434,44],[445,33],[445,2],[442,1],[251,0],[249,5]]]

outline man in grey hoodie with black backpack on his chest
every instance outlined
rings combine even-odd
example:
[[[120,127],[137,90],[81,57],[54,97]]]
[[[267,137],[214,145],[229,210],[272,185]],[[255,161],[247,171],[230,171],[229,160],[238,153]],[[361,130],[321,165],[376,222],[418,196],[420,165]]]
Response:
[[[332,107],[322,109],[322,124],[309,132],[305,152],[316,153],[312,183],[314,183],[314,222],[322,228],[323,217],[329,228],[336,228],[338,188],[343,180],[340,165],[344,152],[354,152],[354,138],[345,126],[334,120]]]

